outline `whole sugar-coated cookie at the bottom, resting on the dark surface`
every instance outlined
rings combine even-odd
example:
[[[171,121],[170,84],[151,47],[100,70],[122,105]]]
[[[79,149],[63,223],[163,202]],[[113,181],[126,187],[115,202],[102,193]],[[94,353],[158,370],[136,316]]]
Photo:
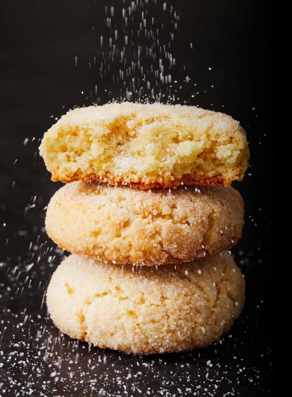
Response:
[[[112,265],[71,255],[54,272],[46,302],[72,338],[126,353],[189,351],[228,331],[244,304],[231,256],[181,266]]]

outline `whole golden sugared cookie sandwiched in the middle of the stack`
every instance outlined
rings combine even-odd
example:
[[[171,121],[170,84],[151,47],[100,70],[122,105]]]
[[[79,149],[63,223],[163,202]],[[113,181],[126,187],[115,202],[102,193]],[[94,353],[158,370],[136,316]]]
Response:
[[[239,239],[244,206],[231,187],[131,189],[73,182],[46,212],[48,235],[66,251],[118,264],[181,264]]]

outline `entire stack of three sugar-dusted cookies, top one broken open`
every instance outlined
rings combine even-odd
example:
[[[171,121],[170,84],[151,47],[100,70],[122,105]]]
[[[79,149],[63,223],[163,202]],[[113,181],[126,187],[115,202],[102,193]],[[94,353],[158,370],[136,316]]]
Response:
[[[189,351],[228,331],[244,279],[226,251],[244,223],[229,187],[248,166],[244,130],[192,106],[75,109],[40,146],[53,181],[48,235],[72,252],[54,272],[54,324],[100,348]]]

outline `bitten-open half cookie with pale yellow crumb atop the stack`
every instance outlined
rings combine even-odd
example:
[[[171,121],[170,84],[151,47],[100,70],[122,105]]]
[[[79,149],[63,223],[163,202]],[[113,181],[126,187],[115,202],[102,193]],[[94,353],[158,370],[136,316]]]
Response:
[[[196,106],[113,103],[75,109],[45,134],[53,181],[132,187],[228,186],[248,166],[238,121]]]

